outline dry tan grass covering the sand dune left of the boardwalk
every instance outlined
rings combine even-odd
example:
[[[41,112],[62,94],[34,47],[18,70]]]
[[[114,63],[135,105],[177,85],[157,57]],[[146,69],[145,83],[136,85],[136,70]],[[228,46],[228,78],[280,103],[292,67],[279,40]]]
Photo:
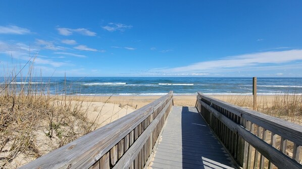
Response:
[[[49,86],[32,82],[34,65],[28,67],[25,77],[23,68],[14,69],[1,81],[0,168],[19,167],[96,128],[83,102],[71,104],[66,95],[51,96]],[[17,84],[16,77],[24,83]]]

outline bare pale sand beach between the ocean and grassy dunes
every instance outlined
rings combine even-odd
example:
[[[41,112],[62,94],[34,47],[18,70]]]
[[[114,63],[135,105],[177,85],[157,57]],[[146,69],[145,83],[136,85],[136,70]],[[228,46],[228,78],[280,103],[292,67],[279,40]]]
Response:
[[[208,95],[210,97],[237,105],[252,108],[252,95]],[[91,121],[104,126],[117,120],[162,96],[69,96],[67,100],[72,100],[75,105],[77,101],[82,103],[82,110],[87,112],[87,117]],[[195,106],[196,95],[175,95],[175,106]],[[258,105],[271,105],[276,98],[281,96],[258,96]]]

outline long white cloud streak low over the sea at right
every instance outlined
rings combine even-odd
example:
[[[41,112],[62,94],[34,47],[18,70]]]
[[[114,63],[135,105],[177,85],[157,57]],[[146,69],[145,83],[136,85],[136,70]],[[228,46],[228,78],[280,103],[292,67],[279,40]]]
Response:
[[[263,64],[281,64],[292,61],[302,60],[302,50],[285,50],[285,51],[271,51],[261,53],[243,54],[238,56],[224,57],[219,60],[197,62],[191,65],[155,69],[161,72],[196,72],[205,71],[208,72],[224,72],[229,68],[240,68],[264,66]]]

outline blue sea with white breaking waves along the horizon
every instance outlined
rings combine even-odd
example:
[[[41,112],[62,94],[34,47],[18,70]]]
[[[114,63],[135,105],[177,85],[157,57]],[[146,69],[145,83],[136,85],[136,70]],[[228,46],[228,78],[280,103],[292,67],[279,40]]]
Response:
[[[0,87],[10,81],[0,77]],[[30,86],[50,95],[153,96],[169,91],[175,95],[252,95],[253,77],[16,77],[10,86]],[[258,77],[257,93],[301,95],[302,78]]]

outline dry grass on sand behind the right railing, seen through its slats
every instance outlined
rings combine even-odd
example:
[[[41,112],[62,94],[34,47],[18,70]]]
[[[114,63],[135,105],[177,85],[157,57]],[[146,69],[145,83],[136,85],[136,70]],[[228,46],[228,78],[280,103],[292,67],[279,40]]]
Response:
[[[269,98],[269,99],[268,99]],[[227,102],[253,109],[253,96],[236,96],[229,97]],[[275,95],[272,97],[260,96],[258,97],[258,107],[257,111],[261,113],[268,114],[270,116],[278,117],[283,120],[287,120],[292,123],[296,123],[301,125],[301,116],[302,116],[302,96],[295,94],[284,94],[284,95]],[[256,125],[257,126],[257,125]],[[257,135],[256,126],[253,129],[253,133]],[[260,129],[261,130],[261,129]],[[260,133],[262,133],[263,128]],[[263,136],[260,134],[260,138]],[[271,143],[271,132],[269,131],[266,136],[266,142]],[[281,146],[281,137],[276,135],[276,145],[275,148],[280,149]],[[292,157],[293,153],[293,142],[287,140],[285,153],[289,157]],[[255,161],[255,148],[252,149],[252,158],[251,158],[251,168],[253,167],[253,163]],[[300,152],[300,157],[302,156],[302,152]],[[260,157],[258,157],[259,165]],[[301,158],[297,160],[301,163]],[[255,164],[255,165],[256,165]],[[265,166],[268,166],[268,160],[265,161]],[[275,166],[273,168],[276,168]]]

